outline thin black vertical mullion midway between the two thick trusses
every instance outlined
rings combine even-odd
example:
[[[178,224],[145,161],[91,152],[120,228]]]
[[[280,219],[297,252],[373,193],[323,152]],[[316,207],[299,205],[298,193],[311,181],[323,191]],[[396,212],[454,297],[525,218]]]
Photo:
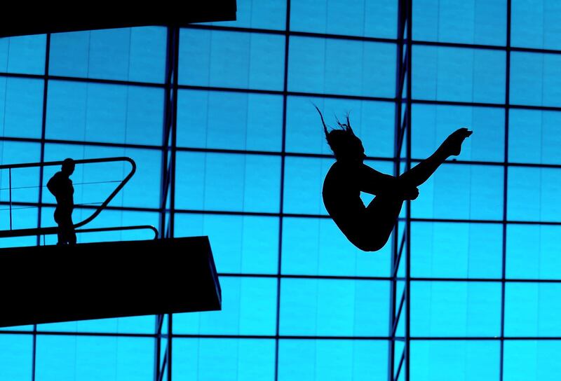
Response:
[[[285,24],[285,64],[283,78],[283,132],[280,146],[280,192],[279,192],[279,220],[278,220],[278,264],[276,283],[276,328],[275,328],[275,381],[278,380],[278,350],[280,326],[280,274],[283,265],[283,209],[284,209],[284,184],[285,184],[285,151],[286,151],[286,106],[288,98],[288,43],[290,41],[290,0],[286,1]]]

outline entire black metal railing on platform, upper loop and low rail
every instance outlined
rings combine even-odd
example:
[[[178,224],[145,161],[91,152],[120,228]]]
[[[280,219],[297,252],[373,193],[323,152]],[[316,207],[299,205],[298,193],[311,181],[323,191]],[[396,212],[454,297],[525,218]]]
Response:
[[[81,226],[86,225],[95,217],[97,217],[109,202],[113,200],[115,195],[123,189],[123,187],[128,183],[131,177],[136,172],[136,163],[135,160],[131,158],[127,158],[126,156],[118,156],[114,158],[98,158],[98,159],[82,159],[82,160],[74,160],[74,164],[91,164],[91,163],[98,163],[98,162],[128,162],[130,163],[130,172],[125,176],[123,180],[120,181],[119,185],[114,189],[113,192],[107,197],[107,199],[101,203],[99,207],[95,209],[93,214],[91,214],[88,218],[80,221],[79,223],[74,224],[74,228],[80,228]],[[7,164],[7,165],[0,165],[0,170],[8,169],[8,182],[9,182],[9,209],[10,209],[10,230],[0,230],[0,238],[7,238],[7,237],[25,237],[29,235],[50,235],[50,234],[57,234],[58,227],[48,227],[48,228],[26,228],[26,229],[12,229],[12,169],[19,169],[19,168],[32,168],[32,167],[50,167],[54,165],[62,165],[62,161],[50,161],[50,162],[26,162],[22,164]],[[39,205],[40,207],[40,205]],[[154,232],[154,239],[158,237],[158,230],[154,228],[154,226],[150,225],[137,225],[137,226],[124,226],[124,227],[114,227],[114,228],[90,228],[90,229],[79,229],[76,230],[76,233],[93,233],[93,232],[104,232],[104,231],[116,231],[116,230],[152,230]]]

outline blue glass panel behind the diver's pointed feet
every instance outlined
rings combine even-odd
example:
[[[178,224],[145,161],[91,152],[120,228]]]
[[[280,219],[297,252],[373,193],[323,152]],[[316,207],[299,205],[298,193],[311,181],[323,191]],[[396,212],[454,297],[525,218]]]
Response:
[[[461,146],[458,160],[502,161],[504,158],[504,110],[491,107],[414,104],[412,153],[424,159],[432,155],[448,135],[460,127],[473,134]]]

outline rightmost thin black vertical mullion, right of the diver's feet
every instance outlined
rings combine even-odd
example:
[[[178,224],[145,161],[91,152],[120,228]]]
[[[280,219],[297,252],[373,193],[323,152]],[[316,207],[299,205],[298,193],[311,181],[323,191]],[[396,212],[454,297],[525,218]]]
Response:
[[[504,116],[504,162],[503,166],[503,252],[501,269],[501,348],[499,364],[499,380],[503,380],[504,369],[504,311],[505,311],[505,279],[506,279],[506,219],[507,205],[506,198],[508,192],[508,123],[510,114],[510,92],[511,92],[511,0],[506,1],[506,73],[505,73],[505,116]]]

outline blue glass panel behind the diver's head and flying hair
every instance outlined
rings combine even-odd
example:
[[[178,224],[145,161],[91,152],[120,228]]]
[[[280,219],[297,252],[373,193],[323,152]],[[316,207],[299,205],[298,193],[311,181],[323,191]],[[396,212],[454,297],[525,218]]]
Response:
[[[393,102],[369,102],[354,99],[288,97],[286,115],[286,151],[332,154],[325,142],[317,104],[325,123],[337,127],[333,112],[344,121],[350,113],[353,131],[360,137],[366,154],[376,157],[393,156],[393,132],[396,108]]]

